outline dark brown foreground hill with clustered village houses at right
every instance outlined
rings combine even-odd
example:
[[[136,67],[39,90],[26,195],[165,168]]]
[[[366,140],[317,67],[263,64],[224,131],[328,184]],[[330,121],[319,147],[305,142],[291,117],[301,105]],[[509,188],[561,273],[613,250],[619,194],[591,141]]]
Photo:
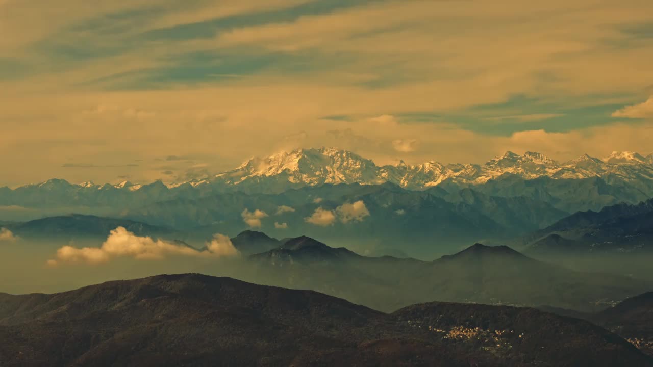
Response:
[[[381,313],[199,274],[0,295],[2,366],[653,366],[611,332],[526,308]]]

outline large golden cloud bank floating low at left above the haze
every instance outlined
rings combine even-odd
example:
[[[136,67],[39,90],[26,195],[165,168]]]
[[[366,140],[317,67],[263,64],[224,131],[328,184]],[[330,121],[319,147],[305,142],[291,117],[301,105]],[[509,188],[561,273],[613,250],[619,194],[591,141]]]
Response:
[[[168,256],[219,258],[238,255],[238,250],[229,237],[215,234],[206,249],[200,251],[178,242],[153,240],[149,236],[136,236],[124,227],[111,231],[101,247],[63,246],[57,250],[56,259],[48,260],[48,265],[64,263],[108,263],[118,257],[131,257],[136,260],[163,260]]]

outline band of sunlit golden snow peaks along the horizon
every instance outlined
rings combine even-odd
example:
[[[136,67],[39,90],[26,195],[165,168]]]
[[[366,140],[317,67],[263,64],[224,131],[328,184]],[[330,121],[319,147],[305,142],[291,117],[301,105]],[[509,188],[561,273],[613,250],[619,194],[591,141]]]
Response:
[[[518,155],[506,152],[483,165],[449,164],[427,161],[419,165],[377,166],[356,153],[337,148],[297,149],[279,152],[263,158],[251,158],[240,167],[227,172],[208,176],[200,180],[171,183],[160,181],[148,185],[128,181],[118,185],[96,185],[93,182],[71,185],[78,189],[161,191],[165,189],[210,189],[210,187],[232,187],[258,192],[279,192],[291,187],[321,185],[324,183],[360,183],[375,185],[395,183],[406,189],[428,189],[443,182],[456,185],[480,185],[502,176],[516,176],[524,180],[541,177],[552,179],[582,179],[600,177],[607,181],[619,179],[626,182],[653,180],[653,154],[643,156],[634,152],[613,152],[598,159],[582,155],[577,159],[560,163],[535,152]],[[53,189],[67,183],[63,180],[25,185],[14,191]],[[4,188],[5,191],[8,188]]]

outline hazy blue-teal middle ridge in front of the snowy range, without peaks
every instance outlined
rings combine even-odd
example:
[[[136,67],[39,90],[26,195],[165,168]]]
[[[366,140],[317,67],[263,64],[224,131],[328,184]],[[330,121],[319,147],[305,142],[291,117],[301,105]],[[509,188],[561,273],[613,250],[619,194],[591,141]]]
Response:
[[[336,212],[338,207],[352,202],[363,202],[370,215],[362,221],[343,223],[335,219],[320,226],[308,223],[317,208]],[[291,210],[279,212],[279,208]],[[137,235],[163,236],[166,228],[176,232],[175,238],[195,242],[201,247],[215,233],[235,236],[249,229],[243,220],[244,210],[261,210],[268,217],[261,220],[261,228],[277,238],[309,234],[329,242],[347,239],[358,242],[362,251],[366,244],[375,242],[386,253],[400,249],[404,253],[422,258],[441,255],[462,244],[486,238],[506,238],[526,234],[543,224],[554,223],[564,217],[564,212],[549,204],[525,197],[490,197],[471,189],[460,194],[429,189],[409,191],[394,185],[325,185],[304,187],[279,195],[221,193],[202,199],[175,199],[149,204],[142,208],[123,208],[114,218],[103,216],[61,215],[44,218],[24,225],[30,231],[43,234],[57,231],[61,234],[71,229],[69,237],[77,232],[89,231],[108,234],[105,227],[121,225],[137,227],[146,223],[150,227],[135,229]],[[74,229],[81,221],[88,221],[88,229]],[[93,222],[93,223],[91,223]],[[113,224],[112,224],[113,223]],[[276,223],[285,223],[277,228]],[[115,227],[114,227],[115,228]],[[97,231],[96,229],[101,229]],[[170,232],[171,230],[168,230]],[[165,237],[165,236],[163,236]],[[262,252],[268,247],[246,250],[244,253]],[[383,251],[382,251],[383,252]]]

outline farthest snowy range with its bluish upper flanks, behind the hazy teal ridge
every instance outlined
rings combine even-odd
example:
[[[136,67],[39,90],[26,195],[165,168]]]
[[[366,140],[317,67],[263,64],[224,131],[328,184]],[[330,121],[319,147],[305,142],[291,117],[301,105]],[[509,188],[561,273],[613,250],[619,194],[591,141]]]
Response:
[[[614,152],[604,159],[583,155],[566,163],[541,153],[506,152],[483,165],[441,165],[435,161],[407,165],[402,161],[379,167],[345,150],[299,149],[252,158],[233,170],[190,182],[96,185],[52,179],[15,189],[3,187],[0,205],[142,208],[155,202],[193,200],[233,191],[283,193],[300,187],[385,182],[409,190],[441,187],[451,193],[473,187],[490,196],[523,196],[564,212],[577,212],[599,210],[618,202],[634,204],[653,196],[653,164],[650,156],[632,152]]]

